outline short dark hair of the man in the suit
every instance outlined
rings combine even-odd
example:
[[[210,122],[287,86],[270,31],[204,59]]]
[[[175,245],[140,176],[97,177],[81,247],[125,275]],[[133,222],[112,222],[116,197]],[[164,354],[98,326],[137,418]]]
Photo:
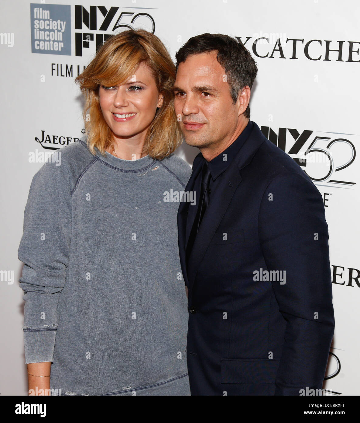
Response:
[[[227,82],[230,86],[230,95],[236,103],[238,94],[246,85],[252,88],[257,66],[249,50],[235,38],[224,34],[201,34],[189,40],[176,52],[176,71],[181,62],[188,56],[200,53],[217,51],[217,61],[225,69]],[[250,118],[250,107],[244,112]]]

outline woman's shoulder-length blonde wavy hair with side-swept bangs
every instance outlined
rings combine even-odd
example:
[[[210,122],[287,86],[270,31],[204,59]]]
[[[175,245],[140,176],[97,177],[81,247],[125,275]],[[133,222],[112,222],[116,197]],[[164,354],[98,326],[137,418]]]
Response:
[[[99,103],[100,85],[111,87],[125,83],[145,63],[152,71],[157,90],[164,96],[146,133],[143,152],[162,160],[180,146],[181,132],[173,107],[172,86],[175,65],[160,39],[146,30],[125,30],[108,38],[97,50],[86,69],[75,79],[85,97],[83,119],[87,145],[92,154],[95,147],[103,156],[114,147],[112,131],[103,118]],[[90,116],[90,120],[87,116]]]

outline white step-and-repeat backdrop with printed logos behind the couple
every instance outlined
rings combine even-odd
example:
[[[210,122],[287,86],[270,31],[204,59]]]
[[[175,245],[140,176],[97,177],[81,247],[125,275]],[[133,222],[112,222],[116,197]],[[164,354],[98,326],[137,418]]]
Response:
[[[325,203],[336,329],[324,387],[359,395],[359,1],[2,0],[0,12],[1,394],[27,394],[17,249],[32,176],[83,135],[74,78],[107,36],[133,27],[159,36],[173,58],[208,32],[236,37],[257,61],[251,119]],[[198,150],[176,153],[191,165]]]

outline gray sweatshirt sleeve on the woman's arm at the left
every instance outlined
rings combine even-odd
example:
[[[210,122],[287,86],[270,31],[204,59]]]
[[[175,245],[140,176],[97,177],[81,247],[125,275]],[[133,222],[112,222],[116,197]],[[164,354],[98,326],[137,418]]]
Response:
[[[25,301],[25,363],[52,361],[57,303],[69,264],[70,178],[59,163],[49,159],[35,174],[24,211],[18,257],[24,262],[19,284]]]

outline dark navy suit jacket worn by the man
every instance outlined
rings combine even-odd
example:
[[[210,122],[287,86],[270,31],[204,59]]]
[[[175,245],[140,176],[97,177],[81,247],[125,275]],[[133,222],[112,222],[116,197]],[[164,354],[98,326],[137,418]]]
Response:
[[[195,207],[179,206],[192,395],[300,395],[322,388],[328,362],[334,314],[322,196],[253,124],[210,195],[188,274]],[[198,154],[186,191],[200,170]]]

